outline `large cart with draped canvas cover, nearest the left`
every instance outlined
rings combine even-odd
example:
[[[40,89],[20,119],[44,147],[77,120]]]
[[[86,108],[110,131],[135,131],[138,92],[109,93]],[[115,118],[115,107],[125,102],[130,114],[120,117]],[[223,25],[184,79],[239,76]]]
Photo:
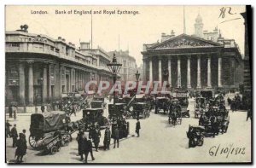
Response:
[[[49,113],[32,113],[29,144],[32,148],[42,149],[49,148],[51,153],[55,150],[57,142],[72,141],[72,133],[74,129],[67,129],[67,114],[62,111],[53,111]],[[67,131],[68,130],[68,131]],[[63,139],[56,139],[54,134],[60,131]],[[51,144],[51,145],[49,145]]]

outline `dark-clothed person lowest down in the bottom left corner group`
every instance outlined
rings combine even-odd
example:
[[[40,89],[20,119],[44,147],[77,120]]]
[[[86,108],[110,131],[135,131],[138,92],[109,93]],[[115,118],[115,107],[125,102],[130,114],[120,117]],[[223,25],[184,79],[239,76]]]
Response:
[[[15,157],[17,156],[17,159],[16,161],[18,163],[21,163],[23,162],[23,156],[26,154],[26,149],[27,149],[27,146],[26,146],[26,139],[25,137],[23,136],[23,133],[20,133],[19,134],[20,138],[19,140],[17,141],[17,144],[16,144],[16,151],[15,151]]]

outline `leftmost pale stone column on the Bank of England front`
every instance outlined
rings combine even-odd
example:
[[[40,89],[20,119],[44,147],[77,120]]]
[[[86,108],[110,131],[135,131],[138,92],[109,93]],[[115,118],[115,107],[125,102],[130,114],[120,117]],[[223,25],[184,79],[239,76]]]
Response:
[[[20,77],[19,77],[19,86],[20,86],[20,105],[25,106],[25,66],[23,62],[20,62],[19,65],[19,72],[20,72]]]

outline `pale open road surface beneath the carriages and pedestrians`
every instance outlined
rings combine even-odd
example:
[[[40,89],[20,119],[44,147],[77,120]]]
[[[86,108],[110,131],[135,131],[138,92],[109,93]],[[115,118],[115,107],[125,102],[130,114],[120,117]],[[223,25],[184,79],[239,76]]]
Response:
[[[191,101],[191,100],[190,100]],[[205,138],[202,147],[188,148],[186,131],[189,125],[198,125],[198,119],[194,119],[194,102],[189,102],[190,118],[183,118],[182,125],[173,127],[168,124],[164,114],[151,113],[148,119],[141,120],[141,136],[132,136],[135,133],[136,120],[129,119],[131,124],[131,136],[120,141],[119,148],[109,151],[100,150],[94,152],[96,160],[89,163],[181,163],[181,162],[247,162],[251,159],[251,121],[246,121],[247,113],[230,113],[230,127],[226,134],[215,138]],[[108,115],[108,114],[105,114]],[[72,120],[81,119],[82,113],[78,113]],[[23,128],[29,130],[29,116],[19,116],[18,131]],[[21,126],[20,126],[21,125]],[[102,131],[103,135],[103,131]],[[26,137],[29,136],[27,132]],[[76,133],[73,134],[75,139]],[[101,141],[102,142],[102,141]],[[113,142],[113,141],[112,141]],[[218,147],[219,146],[219,147]],[[232,147],[231,147],[232,146]],[[14,159],[15,148],[11,148],[11,139],[6,143],[7,160]],[[233,149],[227,157],[226,148]],[[40,151],[29,148],[25,157],[26,163],[83,163],[79,160],[78,144],[71,142],[67,147],[55,155],[42,155]],[[212,150],[210,150],[212,148]],[[218,148],[218,153],[215,152]],[[224,148],[222,150],[222,148]],[[239,151],[239,149],[241,150]],[[245,149],[243,149],[245,148]],[[243,151],[244,150],[244,151]],[[222,151],[222,154],[221,154]],[[225,153],[225,154],[224,154]],[[236,154],[242,153],[242,154]],[[213,154],[213,156],[211,156]]]

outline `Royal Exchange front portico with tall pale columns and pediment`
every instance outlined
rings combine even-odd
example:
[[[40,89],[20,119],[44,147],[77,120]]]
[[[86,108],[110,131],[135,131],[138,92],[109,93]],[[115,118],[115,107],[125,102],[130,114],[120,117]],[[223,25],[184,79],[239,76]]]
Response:
[[[234,68],[223,65],[223,59],[237,61],[236,56],[224,51],[220,43],[186,34],[156,43],[142,52],[144,80],[160,84],[166,80],[174,88],[189,90],[223,87],[223,73]],[[163,79],[164,71],[168,72],[167,79]],[[235,85],[232,78],[225,85]]]

